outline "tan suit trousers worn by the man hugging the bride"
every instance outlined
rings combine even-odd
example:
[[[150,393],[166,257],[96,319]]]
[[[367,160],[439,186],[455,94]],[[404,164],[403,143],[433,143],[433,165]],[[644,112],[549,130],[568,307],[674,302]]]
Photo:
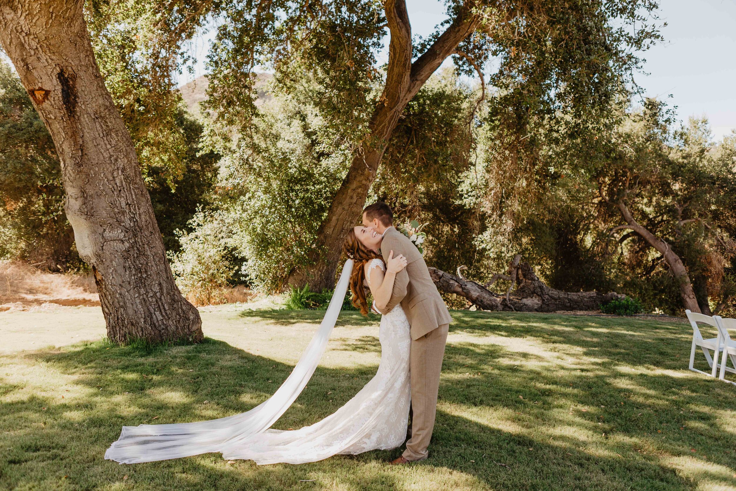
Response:
[[[424,460],[432,438],[437,411],[439,372],[445,356],[447,331],[450,326],[440,325],[419,339],[412,339],[409,353],[411,381],[411,438],[406,442],[403,457],[406,460]]]

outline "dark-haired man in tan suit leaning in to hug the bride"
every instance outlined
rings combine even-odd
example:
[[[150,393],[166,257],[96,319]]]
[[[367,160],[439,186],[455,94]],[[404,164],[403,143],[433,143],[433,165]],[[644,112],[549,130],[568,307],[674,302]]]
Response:
[[[383,261],[387,262],[393,251],[394,257],[403,254],[407,262],[406,268],[396,275],[391,300],[382,311],[388,314],[400,303],[411,326],[411,437],[403,455],[391,462],[406,464],[424,460],[429,454],[427,447],[434,428],[439,372],[445,355],[447,328],[452,319],[417,246],[394,228],[394,213],[389,205],[377,202],[367,206],[363,211],[363,225],[383,236],[380,245]]]

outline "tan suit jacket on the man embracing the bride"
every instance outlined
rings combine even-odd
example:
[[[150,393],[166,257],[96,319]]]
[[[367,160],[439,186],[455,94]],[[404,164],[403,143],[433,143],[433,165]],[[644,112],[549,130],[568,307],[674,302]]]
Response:
[[[391,299],[381,313],[388,314],[394,305],[400,303],[411,325],[411,339],[419,339],[440,325],[452,322],[417,246],[394,227],[383,233],[381,255],[384,262],[388,262],[391,251],[394,251],[394,258],[404,255],[406,268],[396,275]]]

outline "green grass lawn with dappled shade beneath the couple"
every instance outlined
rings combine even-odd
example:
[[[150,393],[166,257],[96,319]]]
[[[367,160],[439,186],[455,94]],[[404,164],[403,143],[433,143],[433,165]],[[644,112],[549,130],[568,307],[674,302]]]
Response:
[[[44,315],[77,315],[68,312]],[[5,317],[0,339],[12,342],[7,326],[29,314]],[[399,449],[298,466],[219,454],[134,465],[102,458],[122,425],[205,420],[261,403],[321,317],[222,306],[203,313],[202,345],[6,351],[0,489],[736,489],[736,386],[687,370],[689,325],[555,314],[453,312],[425,462],[386,464]],[[378,318],[343,312],[322,364],[275,427],[338,409],[375,373],[379,351]],[[707,367],[702,353],[696,360]]]

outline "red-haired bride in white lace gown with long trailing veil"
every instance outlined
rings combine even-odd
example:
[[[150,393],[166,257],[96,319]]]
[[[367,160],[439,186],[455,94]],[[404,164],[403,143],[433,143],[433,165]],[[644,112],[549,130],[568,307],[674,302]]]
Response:
[[[219,420],[169,425],[124,426],[105,459],[121,464],[176,459],[221,452],[224,459],[250,459],[257,464],[302,464],[338,453],[389,449],[406,439],[409,414],[409,324],[401,305],[381,317],[378,372],[354,398],[324,420],[296,431],[269,429],[297,398],[324,353],[327,339],[347,290],[353,305],[368,314],[365,286],[373,294],[372,310],[386,306],[397,272],[406,267],[402,255],[378,255],[381,236],[354,227],[345,237],[347,255],[340,280],[319,330],[289,378],[277,392],[250,411]]]

